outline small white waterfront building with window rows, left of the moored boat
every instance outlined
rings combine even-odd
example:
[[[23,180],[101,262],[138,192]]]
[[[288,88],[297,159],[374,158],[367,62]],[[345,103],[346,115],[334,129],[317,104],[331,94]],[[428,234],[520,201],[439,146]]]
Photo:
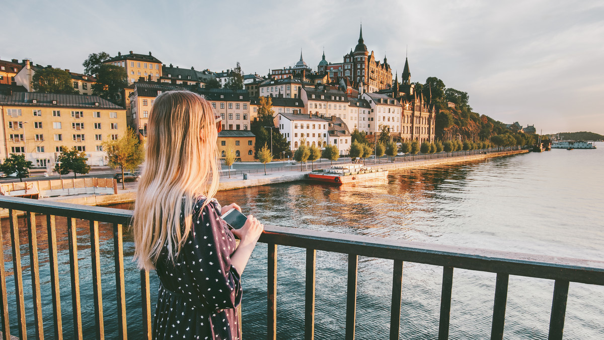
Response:
[[[302,140],[307,146],[324,146],[327,143],[328,125],[324,118],[312,114],[288,114],[275,115],[274,125],[289,142],[289,147],[294,152]]]

